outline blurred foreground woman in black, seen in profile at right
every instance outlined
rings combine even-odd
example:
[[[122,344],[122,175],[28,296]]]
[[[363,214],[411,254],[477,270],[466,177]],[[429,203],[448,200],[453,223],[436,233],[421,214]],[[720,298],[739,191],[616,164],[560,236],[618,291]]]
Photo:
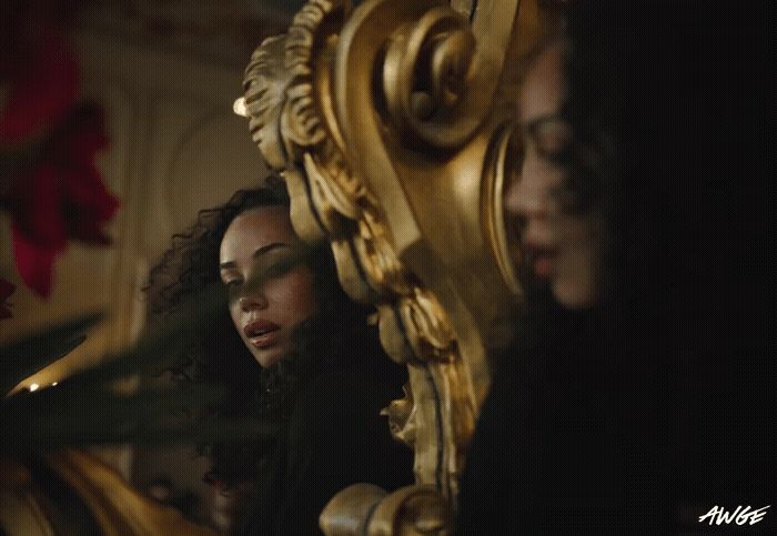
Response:
[[[757,467],[774,466],[774,385],[744,382],[765,382],[744,372],[763,358],[726,313],[740,309],[715,246],[727,203],[689,142],[709,132],[692,120],[698,94],[678,83],[700,91],[689,73],[705,63],[683,16],[660,14],[574,2],[526,75],[505,204],[528,312],[477,423],[462,534],[667,532],[698,528],[723,502],[770,504]]]

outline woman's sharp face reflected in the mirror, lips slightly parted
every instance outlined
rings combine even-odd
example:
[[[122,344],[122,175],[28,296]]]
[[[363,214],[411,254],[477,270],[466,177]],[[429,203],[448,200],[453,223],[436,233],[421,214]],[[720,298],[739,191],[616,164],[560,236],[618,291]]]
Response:
[[[230,313],[260,365],[269,367],[294,350],[292,334],[316,309],[313,273],[304,265],[246,292],[255,270],[271,266],[300,244],[283,206],[243,212],[221,241],[221,280],[230,290]]]

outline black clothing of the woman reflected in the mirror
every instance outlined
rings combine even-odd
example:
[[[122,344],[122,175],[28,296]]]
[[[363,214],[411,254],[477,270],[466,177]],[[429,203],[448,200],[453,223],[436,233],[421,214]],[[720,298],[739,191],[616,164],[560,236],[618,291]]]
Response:
[[[321,510],[351,484],[393,491],[413,483],[413,452],[379,415],[401,397],[406,374],[381,358],[385,365],[325,371],[301,387],[241,533],[320,534]]]

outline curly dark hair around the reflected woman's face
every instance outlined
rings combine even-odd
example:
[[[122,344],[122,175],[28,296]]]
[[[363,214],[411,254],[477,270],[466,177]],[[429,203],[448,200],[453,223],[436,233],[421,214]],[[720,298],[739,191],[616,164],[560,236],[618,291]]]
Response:
[[[270,176],[265,184],[238,191],[225,204],[201,211],[193,225],[173,235],[171,247],[151,270],[145,287],[150,323],[175,314],[198,292],[221,282],[219,250],[238,215],[262,206],[289,206],[282,179]],[[176,381],[225,387],[225,397],[213,409],[218,416],[259,416],[283,424],[306,378],[322,370],[360,366],[359,355],[380,351],[377,337],[367,325],[373,309],[354,303],[343,292],[329,244],[317,244],[305,259],[313,272],[319,307],[297,327],[293,356],[262,368],[224,307],[219,321],[170,367]],[[205,479],[224,485],[251,479],[271,446],[261,442],[202,445],[213,462]]]

